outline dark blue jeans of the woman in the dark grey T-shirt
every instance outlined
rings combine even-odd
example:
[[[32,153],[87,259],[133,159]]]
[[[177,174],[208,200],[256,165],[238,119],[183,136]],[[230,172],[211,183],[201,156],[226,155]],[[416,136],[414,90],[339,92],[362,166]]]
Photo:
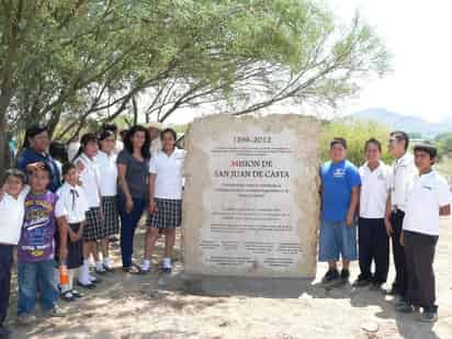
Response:
[[[133,197],[133,201],[134,208],[131,213],[127,213],[125,211],[125,197],[120,195],[117,200],[117,211],[121,217],[121,256],[123,259],[123,268],[129,268],[132,265],[135,229],[146,208],[145,199]]]

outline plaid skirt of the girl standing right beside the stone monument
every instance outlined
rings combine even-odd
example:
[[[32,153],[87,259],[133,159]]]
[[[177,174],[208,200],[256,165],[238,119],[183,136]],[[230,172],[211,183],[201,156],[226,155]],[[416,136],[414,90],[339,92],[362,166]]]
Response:
[[[155,199],[157,213],[148,214],[147,226],[155,228],[176,228],[181,225],[182,201]]]

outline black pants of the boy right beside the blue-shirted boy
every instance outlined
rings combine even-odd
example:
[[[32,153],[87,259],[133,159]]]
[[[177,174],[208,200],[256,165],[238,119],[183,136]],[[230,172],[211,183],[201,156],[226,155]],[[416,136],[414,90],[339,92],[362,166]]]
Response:
[[[389,238],[384,218],[360,218],[358,236],[360,279],[372,280],[378,284],[385,283],[389,269]],[[375,262],[374,274],[371,272],[372,261]]]

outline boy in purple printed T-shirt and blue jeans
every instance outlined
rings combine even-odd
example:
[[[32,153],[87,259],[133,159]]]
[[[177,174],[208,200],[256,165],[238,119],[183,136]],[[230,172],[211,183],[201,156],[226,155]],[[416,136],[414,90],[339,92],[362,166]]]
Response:
[[[64,316],[57,306],[58,292],[54,273],[57,196],[47,190],[52,170],[44,163],[27,166],[30,193],[25,197],[25,215],[18,245],[18,320],[34,320],[36,287],[39,286],[42,310],[53,317]]]

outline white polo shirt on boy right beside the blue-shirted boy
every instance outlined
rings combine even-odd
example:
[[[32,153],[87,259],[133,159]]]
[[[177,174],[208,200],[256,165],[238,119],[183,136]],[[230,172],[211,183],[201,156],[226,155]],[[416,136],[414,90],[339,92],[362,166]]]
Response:
[[[360,216],[384,218],[386,200],[391,188],[391,167],[380,161],[373,171],[365,162],[359,169],[361,177]]]

